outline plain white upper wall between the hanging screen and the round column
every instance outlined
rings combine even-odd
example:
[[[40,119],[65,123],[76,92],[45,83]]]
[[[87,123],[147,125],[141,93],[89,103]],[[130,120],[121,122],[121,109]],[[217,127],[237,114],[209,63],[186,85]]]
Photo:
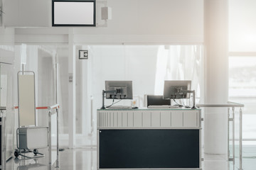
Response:
[[[109,0],[107,28],[75,28],[75,42],[203,42],[202,0]]]

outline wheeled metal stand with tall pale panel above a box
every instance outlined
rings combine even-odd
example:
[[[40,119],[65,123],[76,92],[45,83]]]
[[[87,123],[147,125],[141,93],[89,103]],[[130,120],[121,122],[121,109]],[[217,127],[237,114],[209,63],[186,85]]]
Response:
[[[17,149],[14,156],[22,156],[27,159],[44,157],[44,154],[38,152],[38,149],[48,147],[48,140],[44,145],[39,147],[28,146],[28,132],[31,130],[40,130],[45,128],[48,137],[47,127],[36,126],[36,89],[35,89],[35,73],[31,71],[21,71],[17,73],[18,80],[18,128],[16,130]],[[30,126],[33,127],[30,127]],[[40,135],[39,135],[40,136]],[[36,138],[36,137],[35,137]],[[29,157],[25,153],[33,152],[34,156]]]

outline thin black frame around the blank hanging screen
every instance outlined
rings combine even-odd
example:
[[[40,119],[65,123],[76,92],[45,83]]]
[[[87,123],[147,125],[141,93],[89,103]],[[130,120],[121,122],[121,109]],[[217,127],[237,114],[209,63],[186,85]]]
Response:
[[[92,2],[93,3],[93,23],[92,24],[55,24],[54,23],[54,3],[55,2]],[[52,26],[58,27],[95,27],[96,26],[96,0],[52,0]]]

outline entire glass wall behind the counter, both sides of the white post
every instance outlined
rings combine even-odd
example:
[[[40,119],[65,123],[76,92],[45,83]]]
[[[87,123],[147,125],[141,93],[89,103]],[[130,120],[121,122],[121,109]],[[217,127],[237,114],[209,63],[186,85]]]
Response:
[[[79,59],[79,50],[88,50],[87,60]],[[191,80],[197,102],[203,98],[202,45],[76,45],[72,75],[68,45],[17,45],[16,51],[20,54],[16,55],[16,71],[23,68],[36,73],[36,106],[48,106],[58,97],[60,147],[68,147],[71,128],[68,118],[73,114],[69,113],[72,106],[69,93],[73,91],[69,84],[73,76],[75,147],[96,147],[96,113],[102,106],[106,80],[132,81],[133,99],[120,101],[118,105],[144,107],[146,94],[163,93],[164,80]],[[106,105],[110,103],[112,100],[105,100]],[[46,112],[37,111],[37,120],[38,125],[47,125]],[[52,123],[55,128],[55,120]],[[53,129],[53,140],[55,132]]]

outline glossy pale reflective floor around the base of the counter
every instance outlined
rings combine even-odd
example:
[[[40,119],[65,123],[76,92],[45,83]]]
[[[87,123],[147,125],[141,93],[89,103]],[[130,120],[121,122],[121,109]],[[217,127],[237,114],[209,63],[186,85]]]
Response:
[[[55,164],[48,164],[47,149],[43,151],[46,156],[38,159],[24,159],[17,160],[11,159],[6,164],[6,169],[10,170],[50,170],[56,169]],[[56,154],[53,153],[53,159]],[[203,170],[233,170],[238,169],[238,157],[235,157],[235,168],[233,164],[228,163],[226,155],[222,154],[203,154],[204,161],[202,162]],[[242,168],[244,170],[256,169],[256,146],[243,147],[243,159]],[[97,149],[94,148],[82,148],[82,149],[65,149],[60,152],[59,166],[61,170],[96,170],[97,169]]]

